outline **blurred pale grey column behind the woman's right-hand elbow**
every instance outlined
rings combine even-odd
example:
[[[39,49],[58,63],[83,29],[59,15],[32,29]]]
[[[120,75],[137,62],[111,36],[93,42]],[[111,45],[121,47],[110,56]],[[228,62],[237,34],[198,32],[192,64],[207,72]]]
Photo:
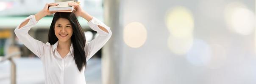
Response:
[[[103,84],[120,84],[120,63],[122,58],[122,25],[120,24],[120,0],[104,0],[105,24],[111,28],[112,36],[103,47]]]

